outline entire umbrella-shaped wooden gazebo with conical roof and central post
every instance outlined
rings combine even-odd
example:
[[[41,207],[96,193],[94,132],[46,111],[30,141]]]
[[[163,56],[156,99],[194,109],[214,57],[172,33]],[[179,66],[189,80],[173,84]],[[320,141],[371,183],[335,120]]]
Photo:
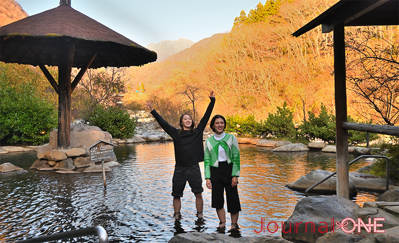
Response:
[[[0,28],[0,61],[39,66],[58,94],[57,148],[70,146],[71,93],[88,68],[140,66],[156,52],[70,7],[60,6]],[[58,83],[48,66],[58,66]],[[71,82],[72,68],[80,69]]]

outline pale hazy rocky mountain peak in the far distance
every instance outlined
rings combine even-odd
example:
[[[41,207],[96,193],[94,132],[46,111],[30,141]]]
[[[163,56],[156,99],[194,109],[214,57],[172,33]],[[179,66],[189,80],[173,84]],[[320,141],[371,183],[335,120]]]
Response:
[[[145,48],[154,51],[158,54],[157,62],[161,62],[171,55],[181,52],[184,49],[191,47],[195,42],[185,38],[178,40],[162,40],[156,44],[151,42]]]

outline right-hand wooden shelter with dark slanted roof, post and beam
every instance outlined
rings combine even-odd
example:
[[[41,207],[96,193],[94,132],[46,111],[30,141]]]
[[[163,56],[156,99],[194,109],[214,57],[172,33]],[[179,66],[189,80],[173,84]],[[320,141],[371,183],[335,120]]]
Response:
[[[399,137],[399,126],[347,122],[345,26],[399,25],[399,0],[340,0],[292,35],[298,37],[321,25],[333,31],[337,195],[349,198],[348,130]]]

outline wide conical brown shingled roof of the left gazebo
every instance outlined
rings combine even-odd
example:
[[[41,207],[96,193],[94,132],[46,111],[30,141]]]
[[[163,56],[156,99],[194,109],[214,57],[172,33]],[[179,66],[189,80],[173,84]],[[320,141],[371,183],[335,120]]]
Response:
[[[96,20],[60,5],[1,27],[0,60],[37,66],[58,66],[56,53],[75,42],[73,68],[82,68],[97,53],[89,68],[139,66],[156,61],[150,51]],[[29,49],[29,50],[28,50]]]

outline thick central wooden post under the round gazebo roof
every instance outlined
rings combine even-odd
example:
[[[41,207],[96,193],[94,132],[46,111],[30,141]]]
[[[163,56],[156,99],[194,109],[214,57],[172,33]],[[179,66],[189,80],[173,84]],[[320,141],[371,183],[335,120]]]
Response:
[[[70,79],[75,45],[66,45],[58,54],[58,131],[57,149],[70,147]]]

